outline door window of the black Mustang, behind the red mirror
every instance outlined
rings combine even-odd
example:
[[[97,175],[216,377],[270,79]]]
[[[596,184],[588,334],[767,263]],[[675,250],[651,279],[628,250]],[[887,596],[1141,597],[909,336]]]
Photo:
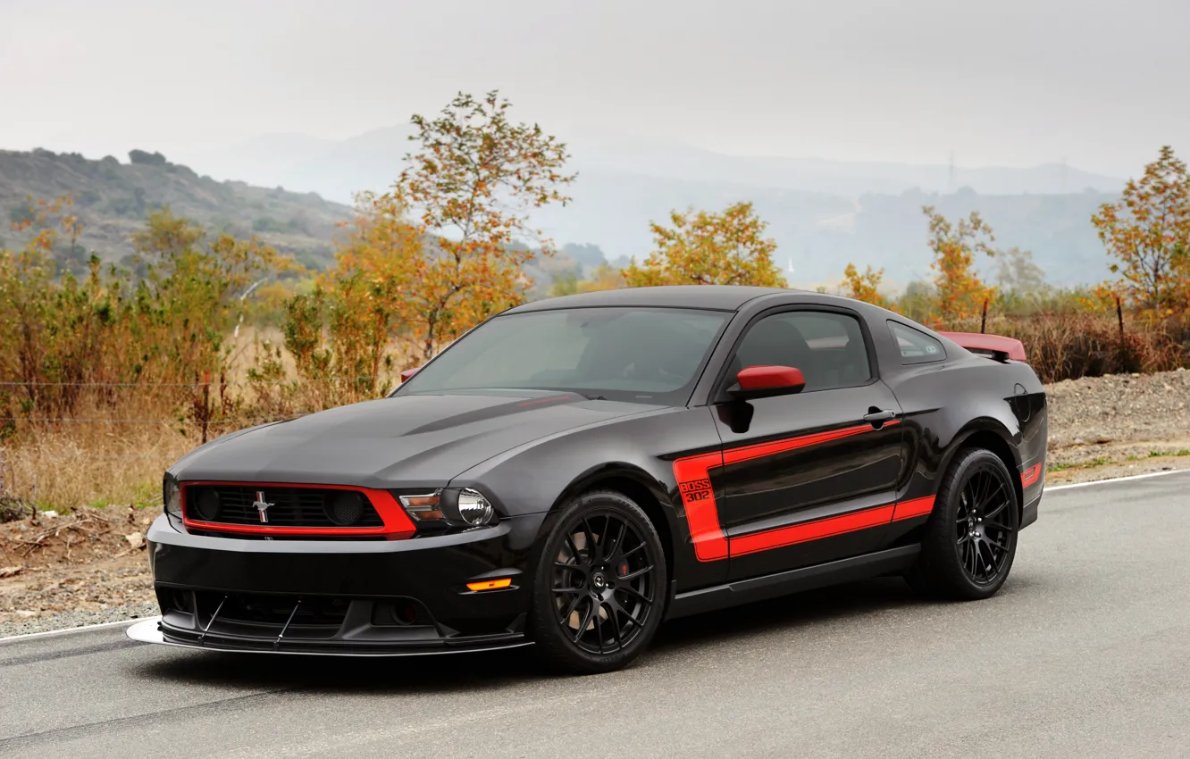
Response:
[[[829,390],[872,378],[859,320],[823,310],[790,310],[753,324],[735,350],[733,371],[776,365],[800,369],[806,389]]]

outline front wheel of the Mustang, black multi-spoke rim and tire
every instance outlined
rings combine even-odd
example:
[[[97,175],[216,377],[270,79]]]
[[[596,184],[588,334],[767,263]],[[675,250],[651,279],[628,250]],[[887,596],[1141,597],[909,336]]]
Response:
[[[649,646],[665,609],[665,552],[649,516],[614,491],[564,506],[533,582],[530,633],[552,670],[612,672]]]

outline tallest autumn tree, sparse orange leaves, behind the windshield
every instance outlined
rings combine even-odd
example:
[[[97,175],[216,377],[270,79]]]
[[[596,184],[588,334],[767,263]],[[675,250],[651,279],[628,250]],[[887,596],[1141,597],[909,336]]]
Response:
[[[552,244],[528,214],[565,205],[564,143],[537,124],[514,124],[497,90],[482,99],[459,93],[436,119],[414,115],[419,143],[392,190],[370,199],[371,239],[393,237],[393,220],[408,219],[413,237],[393,287],[402,325],[422,359],[438,345],[488,315],[525,299],[522,274]],[[407,214],[407,215],[406,215]],[[405,237],[401,231],[397,237]],[[514,244],[528,239],[537,249]],[[362,251],[361,251],[362,252]]]

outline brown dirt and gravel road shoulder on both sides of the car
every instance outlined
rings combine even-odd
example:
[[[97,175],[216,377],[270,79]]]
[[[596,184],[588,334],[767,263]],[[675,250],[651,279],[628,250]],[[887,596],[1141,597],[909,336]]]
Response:
[[[1190,469],[1190,371],[1067,380],[1046,391],[1048,484]],[[0,525],[0,638],[156,614],[144,550],[130,535],[157,513],[108,507]]]

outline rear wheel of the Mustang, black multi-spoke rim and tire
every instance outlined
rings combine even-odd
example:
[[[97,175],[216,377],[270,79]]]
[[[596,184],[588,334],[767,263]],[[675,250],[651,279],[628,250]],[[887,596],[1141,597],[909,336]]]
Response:
[[[1019,520],[1016,488],[1000,457],[960,451],[942,477],[921,554],[906,579],[931,598],[990,598],[1013,567]]]

